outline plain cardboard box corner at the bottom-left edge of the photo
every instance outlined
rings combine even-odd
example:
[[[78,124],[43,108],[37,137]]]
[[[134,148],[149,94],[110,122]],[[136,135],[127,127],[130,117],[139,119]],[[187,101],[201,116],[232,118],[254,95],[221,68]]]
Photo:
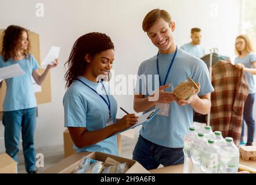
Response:
[[[0,173],[17,173],[17,163],[6,153],[0,154]]]

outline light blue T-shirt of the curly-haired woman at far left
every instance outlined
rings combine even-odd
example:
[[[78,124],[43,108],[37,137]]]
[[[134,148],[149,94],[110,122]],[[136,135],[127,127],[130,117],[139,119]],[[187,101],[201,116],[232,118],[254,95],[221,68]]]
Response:
[[[3,57],[0,56],[0,68],[14,64],[19,64],[26,74],[5,79],[6,94],[3,101],[3,111],[35,108],[37,100],[31,77],[33,70],[38,69],[39,65],[32,55],[28,55],[20,61],[10,58],[7,62],[3,61]]]

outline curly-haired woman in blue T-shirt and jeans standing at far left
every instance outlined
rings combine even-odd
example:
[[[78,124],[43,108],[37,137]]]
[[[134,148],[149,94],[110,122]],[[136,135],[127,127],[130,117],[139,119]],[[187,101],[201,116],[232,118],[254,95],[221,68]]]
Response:
[[[49,70],[59,63],[48,65],[39,75],[39,65],[30,53],[30,41],[25,28],[10,25],[3,36],[0,68],[19,64],[24,75],[5,79],[6,95],[3,102],[3,125],[5,126],[5,148],[18,164],[20,131],[23,139],[23,153],[26,171],[35,173],[34,131],[37,101],[33,90],[31,75],[37,84],[42,84]],[[2,86],[2,82],[0,87]]]

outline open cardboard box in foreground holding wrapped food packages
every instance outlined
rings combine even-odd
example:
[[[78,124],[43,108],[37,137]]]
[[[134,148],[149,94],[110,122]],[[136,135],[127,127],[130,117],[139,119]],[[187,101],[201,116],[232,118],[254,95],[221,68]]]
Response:
[[[129,160],[128,158],[117,157],[106,153],[101,152],[83,152],[75,153],[70,157],[65,158],[64,160],[57,163],[55,166],[42,171],[41,173],[72,173],[76,166],[78,166],[85,157],[89,157],[98,161],[105,161],[107,157],[111,157],[116,161],[121,163],[127,162],[129,167],[126,173],[149,173],[139,162],[134,160]]]

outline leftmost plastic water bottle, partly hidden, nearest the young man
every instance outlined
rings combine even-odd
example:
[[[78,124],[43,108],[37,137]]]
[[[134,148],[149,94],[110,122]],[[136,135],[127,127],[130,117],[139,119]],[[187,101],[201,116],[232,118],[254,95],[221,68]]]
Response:
[[[188,134],[184,136],[184,165],[183,165],[183,173],[191,173],[193,168],[193,162],[191,160],[191,148],[192,141],[197,139],[196,129],[194,127],[189,128]]]

